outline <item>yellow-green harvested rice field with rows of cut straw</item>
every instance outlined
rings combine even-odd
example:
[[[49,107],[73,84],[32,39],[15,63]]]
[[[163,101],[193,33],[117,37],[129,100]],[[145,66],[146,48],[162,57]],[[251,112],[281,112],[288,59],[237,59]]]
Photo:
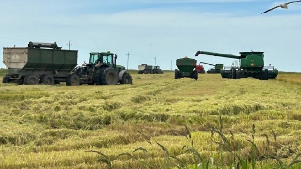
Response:
[[[133,85],[0,84],[0,168],[286,168],[300,160],[301,74],[131,75]]]

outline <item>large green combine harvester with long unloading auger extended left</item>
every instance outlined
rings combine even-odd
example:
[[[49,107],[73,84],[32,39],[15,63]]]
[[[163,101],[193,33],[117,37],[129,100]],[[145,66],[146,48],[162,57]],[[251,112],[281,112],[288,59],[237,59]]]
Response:
[[[220,54],[213,52],[197,51],[195,56],[199,54],[220,56],[225,58],[239,59],[240,64],[237,67],[232,66],[230,71],[221,70],[221,76],[223,78],[240,79],[252,77],[260,80],[268,80],[269,77],[272,79],[278,75],[278,70],[269,71],[264,67],[264,52],[240,52],[240,56],[232,54]]]

